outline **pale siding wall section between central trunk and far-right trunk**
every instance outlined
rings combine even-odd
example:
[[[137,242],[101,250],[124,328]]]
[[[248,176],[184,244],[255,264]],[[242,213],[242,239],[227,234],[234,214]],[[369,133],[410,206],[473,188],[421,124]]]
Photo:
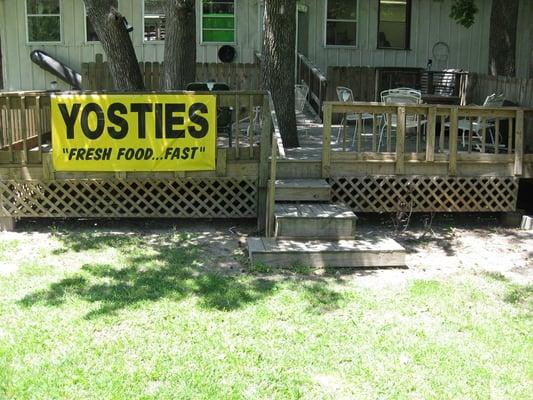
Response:
[[[326,0],[304,0],[309,6],[309,58],[323,71],[328,66],[421,67],[433,59],[433,69],[463,68],[487,71],[491,0],[481,4],[476,23],[466,29],[449,18],[452,0],[413,0],[411,13],[411,49],[377,49],[377,0],[359,0],[357,47],[326,47],[324,15]],[[432,55],[435,43],[450,48],[446,61]]]

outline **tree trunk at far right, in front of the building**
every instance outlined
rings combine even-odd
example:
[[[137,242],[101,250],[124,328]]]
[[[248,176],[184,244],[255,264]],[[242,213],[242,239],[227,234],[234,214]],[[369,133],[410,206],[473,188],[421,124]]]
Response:
[[[516,74],[518,0],[492,0],[489,36],[489,75]]]

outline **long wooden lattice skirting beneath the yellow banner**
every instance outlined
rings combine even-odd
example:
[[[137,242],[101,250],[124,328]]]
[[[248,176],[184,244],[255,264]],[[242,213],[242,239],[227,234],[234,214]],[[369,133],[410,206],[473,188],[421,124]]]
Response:
[[[245,178],[1,181],[10,217],[243,218],[257,215],[257,182]]]

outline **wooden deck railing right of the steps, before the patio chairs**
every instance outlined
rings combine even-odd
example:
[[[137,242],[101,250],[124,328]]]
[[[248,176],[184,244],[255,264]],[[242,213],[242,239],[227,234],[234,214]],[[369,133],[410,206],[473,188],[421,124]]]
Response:
[[[324,104],[322,176],[332,160],[390,161],[404,174],[407,162],[448,163],[457,174],[458,161],[513,163],[521,175],[524,156],[524,115],[517,107],[459,107],[384,103]],[[338,151],[332,151],[332,115],[356,115],[353,134],[340,127]],[[363,117],[366,117],[363,119]],[[461,128],[468,128],[464,134]],[[505,128],[505,129],[504,129]],[[351,129],[350,129],[351,131]]]

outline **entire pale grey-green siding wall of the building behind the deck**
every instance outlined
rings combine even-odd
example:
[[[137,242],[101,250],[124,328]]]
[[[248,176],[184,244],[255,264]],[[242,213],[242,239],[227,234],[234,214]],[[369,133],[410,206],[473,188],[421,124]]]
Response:
[[[236,62],[254,61],[254,52],[261,48],[259,5],[262,0],[236,0]],[[433,69],[462,68],[486,73],[492,0],[478,0],[476,23],[466,29],[449,18],[452,0],[413,0],[411,18],[411,49],[377,49],[378,0],[359,0],[357,46],[355,48],[324,45],[324,14],[326,0],[302,0],[308,6],[309,58],[324,72],[328,66],[392,66],[425,68],[433,59]],[[200,1],[197,2],[197,37],[200,37]],[[163,42],[143,41],[142,0],[119,0],[119,8],[134,26],[131,33],[140,61],[162,61]],[[101,45],[85,41],[85,20],[82,0],[62,0],[63,42],[61,44],[28,44],[26,41],[24,0],[0,0],[0,40],[3,53],[5,90],[47,89],[56,80],[30,61],[32,50],[40,49],[81,71],[83,62],[93,61],[102,53]],[[517,76],[530,77],[533,51],[533,1],[522,0],[518,20]],[[448,44],[446,61],[432,55],[435,43]],[[218,45],[198,44],[198,62],[217,62]],[[60,88],[67,88],[65,85]]]

